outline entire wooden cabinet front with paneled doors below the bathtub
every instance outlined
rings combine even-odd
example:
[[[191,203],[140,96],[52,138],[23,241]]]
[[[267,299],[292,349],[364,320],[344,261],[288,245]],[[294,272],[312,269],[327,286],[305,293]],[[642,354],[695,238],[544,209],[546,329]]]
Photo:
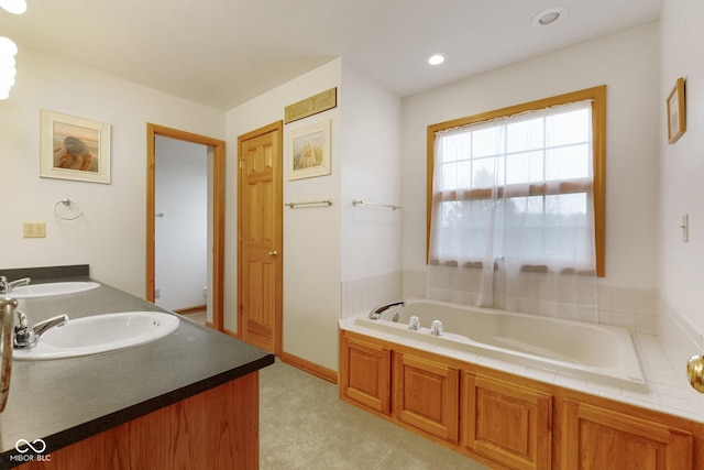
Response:
[[[341,332],[340,397],[493,468],[704,470],[704,424]]]

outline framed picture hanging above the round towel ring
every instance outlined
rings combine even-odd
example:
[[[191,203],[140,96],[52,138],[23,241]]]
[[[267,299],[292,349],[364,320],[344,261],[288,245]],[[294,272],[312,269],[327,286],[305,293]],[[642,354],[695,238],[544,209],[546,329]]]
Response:
[[[40,176],[110,184],[110,124],[42,109]]]

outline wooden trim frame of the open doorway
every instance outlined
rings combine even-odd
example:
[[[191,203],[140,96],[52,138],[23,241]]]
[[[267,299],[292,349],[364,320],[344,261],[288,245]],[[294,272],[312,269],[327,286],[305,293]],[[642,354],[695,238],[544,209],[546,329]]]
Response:
[[[212,256],[207,286],[211,311],[209,326],[223,328],[223,277],[224,277],[224,142],[176,129],[147,123],[147,175],[146,175],[146,299],[156,299],[156,139],[169,138],[207,147],[208,197],[211,203],[208,218],[209,243]]]

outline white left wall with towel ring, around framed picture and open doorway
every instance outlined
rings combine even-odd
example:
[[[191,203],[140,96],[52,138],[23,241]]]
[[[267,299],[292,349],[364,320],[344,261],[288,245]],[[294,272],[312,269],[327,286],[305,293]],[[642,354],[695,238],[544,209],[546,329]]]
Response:
[[[0,270],[90,264],[94,277],[144,296],[146,123],[224,139],[224,112],[19,45],[16,84],[0,101]],[[40,109],[111,124],[112,183],[40,178]],[[70,198],[84,217],[59,222]],[[45,239],[23,239],[45,221]]]

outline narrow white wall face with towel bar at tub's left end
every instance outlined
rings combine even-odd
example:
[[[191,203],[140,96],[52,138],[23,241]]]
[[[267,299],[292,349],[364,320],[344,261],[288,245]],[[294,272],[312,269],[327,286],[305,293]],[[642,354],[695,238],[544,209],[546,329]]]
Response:
[[[343,62],[342,281],[400,270],[400,98]]]

